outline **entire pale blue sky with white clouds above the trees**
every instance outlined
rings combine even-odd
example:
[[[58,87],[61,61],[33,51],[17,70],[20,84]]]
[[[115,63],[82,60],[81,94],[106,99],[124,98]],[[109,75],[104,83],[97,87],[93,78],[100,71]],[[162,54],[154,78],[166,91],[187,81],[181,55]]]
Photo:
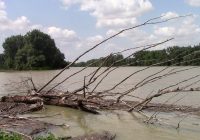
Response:
[[[123,49],[174,40],[157,46],[200,43],[200,0],[0,0],[0,53],[5,38],[33,29],[49,34],[68,61],[121,29],[148,19],[191,16],[140,27],[108,41],[80,60]]]

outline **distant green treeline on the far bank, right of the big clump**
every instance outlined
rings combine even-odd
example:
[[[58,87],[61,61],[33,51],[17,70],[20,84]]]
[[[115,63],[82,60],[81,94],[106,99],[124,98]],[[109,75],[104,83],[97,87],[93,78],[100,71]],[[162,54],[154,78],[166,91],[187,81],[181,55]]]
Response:
[[[132,57],[124,59],[122,54],[111,55],[103,66],[200,66],[200,44],[196,46],[173,46],[163,50],[138,51]],[[100,66],[106,57],[76,63],[75,66]],[[117,62],[118,61],[118,62]],[[114,63],[115,62],[115,63]],[[161,63],[161,64],[158,64]]]

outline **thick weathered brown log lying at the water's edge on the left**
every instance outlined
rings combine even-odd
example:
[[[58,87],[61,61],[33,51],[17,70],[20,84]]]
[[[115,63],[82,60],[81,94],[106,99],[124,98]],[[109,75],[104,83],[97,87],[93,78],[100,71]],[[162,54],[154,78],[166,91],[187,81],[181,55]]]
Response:
[[[68,95],[69,96],[69,95]],[[27,95],[27,96],[4,96],[1,98],[1,102],[7,103],[24,103],[29,105],[29,111],[37,111],[43,108],[43,105],[55,105],[62,107],[69,107],[77,110],[82,110],[92,114],[100,114],[90,106],[83,104],[82,99],[76,99],[73,96],[64,97],[63,95]]]

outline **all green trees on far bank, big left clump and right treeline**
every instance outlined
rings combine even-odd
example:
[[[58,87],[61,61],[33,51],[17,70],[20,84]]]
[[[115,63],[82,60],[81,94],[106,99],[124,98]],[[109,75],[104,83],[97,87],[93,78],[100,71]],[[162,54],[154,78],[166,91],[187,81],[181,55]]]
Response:
[[[24,36],[16,35],[5,39],[4,53],[0,54],[0,69],[32,70],[59,69],[68,64],[64,54],[56,47],[47,34],[33,30]],[[103,66],[199,66],[200,44],[188,47],[173,46],[163,50],[145,50],[126,58],[121,53],[101,57],[86,62],[78,62],[75,67]],[[169,61],[170,60],[170,61]],[[115,62],[115,63],[114,63]],[[164,63],[163,63],[164,62]],[[160,64],[158,64],[160,63]]]

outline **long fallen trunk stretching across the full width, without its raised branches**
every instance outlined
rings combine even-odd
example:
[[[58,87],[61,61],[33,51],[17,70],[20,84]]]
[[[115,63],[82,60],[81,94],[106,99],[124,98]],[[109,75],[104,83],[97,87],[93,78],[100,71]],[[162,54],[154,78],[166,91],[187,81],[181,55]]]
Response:
[[[146,99],[148,101],[148,99]],[[145,104],[144,104],[145,103]],[[4,96],[0,101],[1,115],[16,115],[28,112],[38,111],[43,109],[44,105],[54,105],[67,108],[73,108],[85,111],[92,114],[100,114],[102,110],[123,110],[132,111],[158,111],[158,112],[182,112],[190,114],[200,114],[200,107],[148,103],[139,101],[120,101],[104,98],[86,99],[82,94],[71,94],[69,92],[59,94],[57,92],[51,94],[36,94],[36,95],[15,95]]]

